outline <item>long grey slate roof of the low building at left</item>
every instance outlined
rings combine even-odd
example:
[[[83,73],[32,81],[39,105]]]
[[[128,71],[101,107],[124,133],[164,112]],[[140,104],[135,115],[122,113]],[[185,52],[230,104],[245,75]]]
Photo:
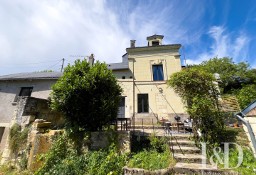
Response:
[[[28,72],[0,76],[0,81],[4,80],[38,80],[38,79],[58,79],[62,72]]]

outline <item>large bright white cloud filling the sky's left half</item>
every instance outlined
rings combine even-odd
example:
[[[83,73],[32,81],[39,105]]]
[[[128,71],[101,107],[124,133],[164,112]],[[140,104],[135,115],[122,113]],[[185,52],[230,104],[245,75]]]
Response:
[[[46,69],[51,64],[31,68],[26,63],[74,60],[70,55],[94,53],[101,61],[117,62],[129,46],[129,36],[105,1],[27,0],[0,5],[0,23],[5,24],[0,28],[0,74]]]

